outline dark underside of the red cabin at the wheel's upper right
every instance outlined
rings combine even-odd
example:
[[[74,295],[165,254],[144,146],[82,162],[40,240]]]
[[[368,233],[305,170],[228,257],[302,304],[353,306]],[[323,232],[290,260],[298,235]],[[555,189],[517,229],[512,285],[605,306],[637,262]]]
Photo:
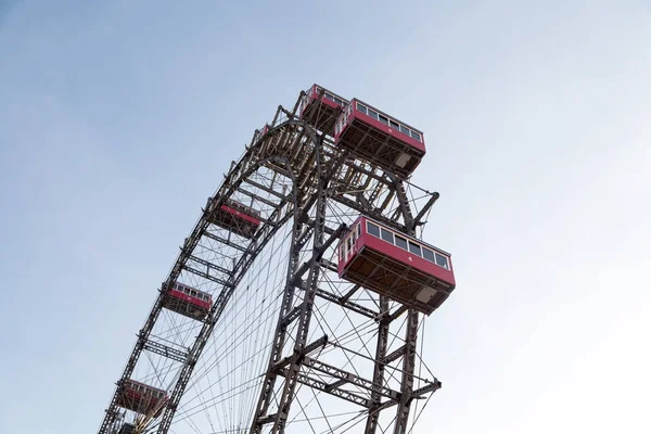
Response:
[[[424,155],[423,151],[359,119],[353,119],[342,132],[339,143],[400,178],[408,178]]]

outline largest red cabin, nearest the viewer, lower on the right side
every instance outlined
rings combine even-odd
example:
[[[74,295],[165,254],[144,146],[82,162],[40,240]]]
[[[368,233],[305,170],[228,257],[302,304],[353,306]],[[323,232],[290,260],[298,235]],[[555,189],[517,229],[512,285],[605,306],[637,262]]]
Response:
[[[339,276],[426,315],[456,285],[449,253],[363,216],[340,241]]]

